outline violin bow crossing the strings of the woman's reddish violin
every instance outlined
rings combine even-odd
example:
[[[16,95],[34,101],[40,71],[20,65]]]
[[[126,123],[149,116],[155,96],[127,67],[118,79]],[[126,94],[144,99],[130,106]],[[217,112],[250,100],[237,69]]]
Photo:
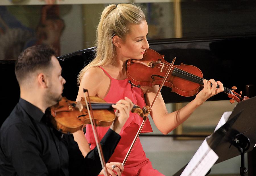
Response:
[[[171,68],[172,68],[172,66],[173,66],[173,64],[174,64],[174,62],[175,62],[175,59],[176,59],[176,57],[174,57],[174,59],[173,59],[171,65],[170,65],[170,67],[169,67],[169,69],[168,69],[166,75],[164,76],[164,79],[163,79],[163,81],[162,81],[162,83],[161,83],[161,85],[160,85],[160,87],[159,87],[159,89],[158,89],[158,91],[157,91],[157,93],[156,93],[156,96],[155,96],[155,98],[154,98],[152,104],[150,105],[149,113],[150,113],[150,111],[151,111],[151,109],[152,109],[152,107],[153,107],[153,105],[154,105],[154,103],[155,103],[155,101],[156,101],[156,98],[158,97],[158,95],[159,95],[159,93],[160,93],[160,90],[161,90],[162,87],[164,86],[164,82],[166,81],[166,79],[167,79],[167,77],[168,77],[168,75],[169,75],[169,73],[170,73],[170,71],[171,71]],[[138,132],[137,132],[137,134],[136,134],[136,136],[135,136],[135,138],[133,139],[133,142],[132,142],[132,144],[131,144],[131,146],[130,146],[130,148],[129,148],[129,150],[128,150],[128,152],[127,152],[127,154],[126,154],[126,156],[125,156],[125,158],[124,158],[124,160],[123,160],[123,163],[122,163],[123,166],[125,165],[125,163],[126,163],[128,157],[129,157],[129,155],[130,155],[130,153],[131,153],[131,150],[132,150],[132,148],[133,148],[133,146],[134,146],[134,144],[135,144],[137,138],[139,137],[139,134],[141,133],[141,130],[142,130],[144,124],[146,123],[146,120],[147,120],[147,118],[148,118],[149,113],[146,115],[145,120],[143,120],[143,122],[142,122],[142,124],[141,124],[141,126],[140,126],[140,128],[139,128],[139,130],[138,130]]]

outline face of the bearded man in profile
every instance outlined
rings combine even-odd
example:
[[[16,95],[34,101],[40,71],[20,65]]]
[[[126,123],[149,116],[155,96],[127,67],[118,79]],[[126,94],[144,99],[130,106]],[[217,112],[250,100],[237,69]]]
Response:
[[[49,85],[48,92],[46,95],[48,100],[53,104],[56,104],[62,99],[63,85],[66,83],[66,80],[61,76],[61,66],[59,61],[55,56],[51,57],[52,68],[49,71]]]

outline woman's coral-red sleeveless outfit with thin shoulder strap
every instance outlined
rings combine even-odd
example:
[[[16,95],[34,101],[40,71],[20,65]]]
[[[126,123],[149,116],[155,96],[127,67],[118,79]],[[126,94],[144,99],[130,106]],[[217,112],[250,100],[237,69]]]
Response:
[[[124,99],[124,97],[126,96],[130,98],[134,104],[139,105],[140,107],[145,106],[144,94],[140,88],[131,88],[131,84],[128,83],[127,78],[124,80],[114,79],[102,67],[100,68],[111,79],[110,90],[104,98],[106,102],[116,103],[120,99]],[[121,140],[117,144],[115,152],[113,153],[108,162],[123,162],[142,122],[143,119],[138,114],[130,112],[130,117],[128,118],[120,132]],[[106,134],[108,129],[109,127],[97,127],[100,140]],[[146,120],[146,123],[141,132],[152,132],[152,128],[148,119]],[[85,136],[88,142],[91,144],[90,148],[95,148],[95,139],[90,125],[86,125]],[[149,159],[146,158],[139,138],[135,142],[124,168],[125,169],[122,173],[122,176],[163,175],[156,169],[152,168],[152,164]]]

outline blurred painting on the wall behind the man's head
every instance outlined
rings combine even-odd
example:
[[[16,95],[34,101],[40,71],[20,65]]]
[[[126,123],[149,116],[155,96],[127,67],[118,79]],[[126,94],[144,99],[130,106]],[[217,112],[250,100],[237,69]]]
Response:
[[[52,45],[59,54],[64,29],[58,5],[0,6],[0,60],[16,60],[35,44]]]

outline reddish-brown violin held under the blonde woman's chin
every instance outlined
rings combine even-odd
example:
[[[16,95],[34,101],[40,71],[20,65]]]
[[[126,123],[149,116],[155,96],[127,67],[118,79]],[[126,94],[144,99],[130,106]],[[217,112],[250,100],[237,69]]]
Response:
[[[152,88],[154,85],[162,83],[170,65],[164,60],[164,55],[160,55],[152,49],[146,49],[141,60],[129,59],[127,61],[127,78],[132,86]],[[170,87],[171,92],[176,92],[181,96],[193,96],[204,85],[203,79],[203,73],[200,69],[193,65],[181,63],[180,65],[173,65],[164,86]],[[249,99],[246,96],[242,98],[242,91],[238,94],[235,92],[236,89],[236,86],[233,86],[232,90],[224,87],[223,92],[231,98],[230,103]]]

